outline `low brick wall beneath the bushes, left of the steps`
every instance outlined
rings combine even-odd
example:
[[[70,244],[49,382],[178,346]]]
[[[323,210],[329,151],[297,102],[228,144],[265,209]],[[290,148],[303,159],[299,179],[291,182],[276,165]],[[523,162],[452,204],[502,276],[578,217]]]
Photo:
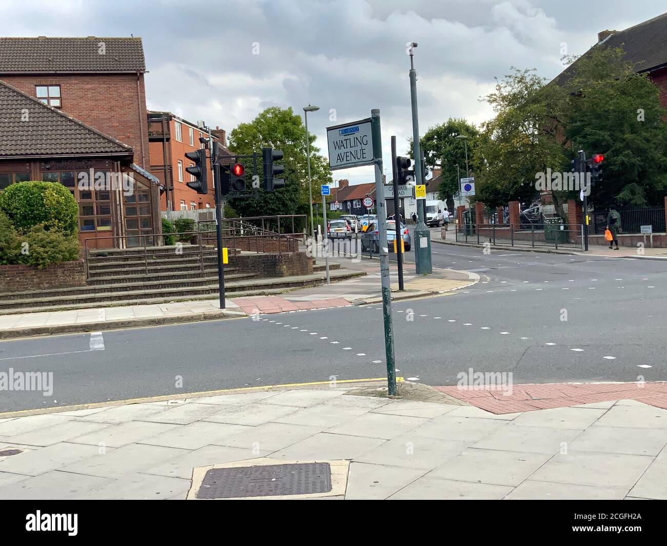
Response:
[[[63,261],[46,269],[29,265],[0,265],[0,292],[85,285],[83,260]]]

